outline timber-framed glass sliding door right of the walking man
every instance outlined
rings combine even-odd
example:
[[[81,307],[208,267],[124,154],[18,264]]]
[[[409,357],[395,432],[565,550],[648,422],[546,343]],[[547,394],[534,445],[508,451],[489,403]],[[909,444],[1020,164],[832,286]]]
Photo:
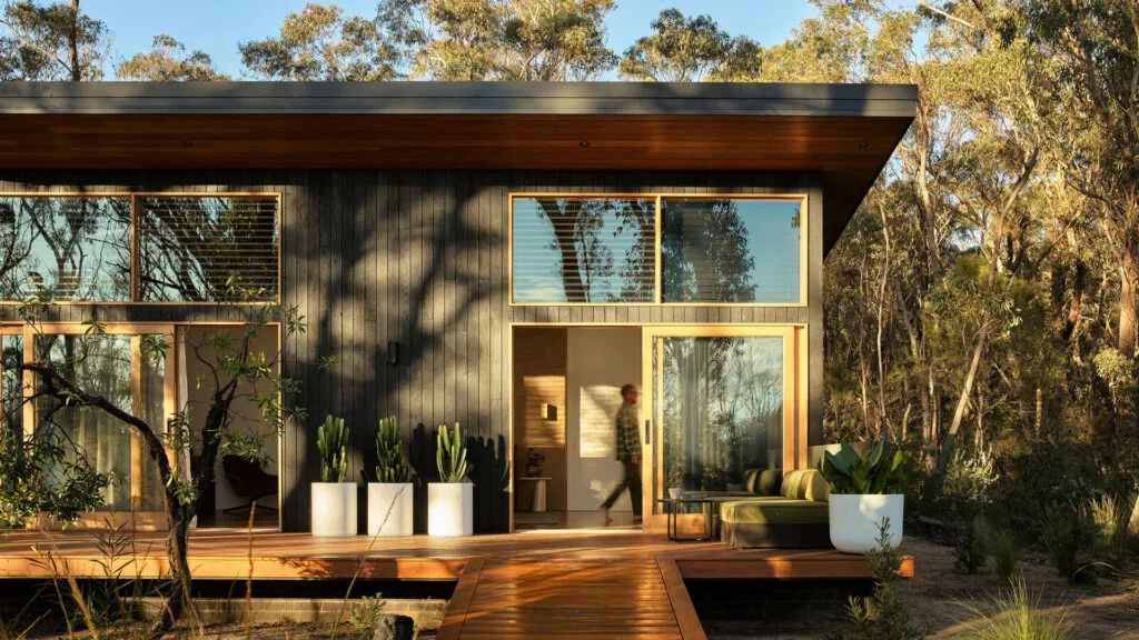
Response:
[[[802,326],[646,327],[641,466],[646,528],[670,493],[744,490],[748,469],[805,463]],[[703,507],[681,528],[703,528]]]

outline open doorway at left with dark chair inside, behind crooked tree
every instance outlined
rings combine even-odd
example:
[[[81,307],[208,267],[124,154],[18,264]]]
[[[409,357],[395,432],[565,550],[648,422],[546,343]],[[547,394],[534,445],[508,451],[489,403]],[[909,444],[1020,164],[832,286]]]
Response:
[[[219,361],[211,336],[219,330],[228,330],[235,340],[239,340],[244,326],[190,325],[177,328],[174,344],[178,350],[178,403],[179,409],[189,415],[191,425],[203,424],[204,416],[199,413],[210,408],[210,393],[213,389],[213,385],[207,384],[208,377],[213,375],[210,364],[216,366]],[[268,325],[249,339],[249,352],[272,358],[278,353],[279,340],[279,328]],[[197,348],[196,355],[191,345]],[[199,384],[199,380],[203,383]],[[231,429],[236,432],[264,435],[261,460],[251,461],[222,449],[214,470],[213,491],[204,497],[198,512],[198,528],[246,528],[249,526],[253,502],[256,502],[256,509],[253,510],[254,528],[279,528],[280,442],[271,433],[272,428],[262,420],[257,391],[245,383],[238,387],[230,419]],[[191,446],[189,463],[192,468],[197,468],[199,444],[195,442]]]

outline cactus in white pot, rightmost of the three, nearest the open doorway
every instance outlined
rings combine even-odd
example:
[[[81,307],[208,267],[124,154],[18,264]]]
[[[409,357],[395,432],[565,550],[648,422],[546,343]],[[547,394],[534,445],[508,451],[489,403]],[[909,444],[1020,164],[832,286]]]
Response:
[[[435,465],[439,482],[427,485],[427,533],[431,535],[472,535],[475,532],[475,492],[467,479],[467,443],[459,422],[454,433],[439,426]]]

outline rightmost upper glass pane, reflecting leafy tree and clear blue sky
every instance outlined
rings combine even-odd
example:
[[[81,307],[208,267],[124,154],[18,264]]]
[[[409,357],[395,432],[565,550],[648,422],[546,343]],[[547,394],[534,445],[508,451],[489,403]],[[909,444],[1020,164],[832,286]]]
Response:
[[[664,302],[802,302],[801,199],[662,198]]]

